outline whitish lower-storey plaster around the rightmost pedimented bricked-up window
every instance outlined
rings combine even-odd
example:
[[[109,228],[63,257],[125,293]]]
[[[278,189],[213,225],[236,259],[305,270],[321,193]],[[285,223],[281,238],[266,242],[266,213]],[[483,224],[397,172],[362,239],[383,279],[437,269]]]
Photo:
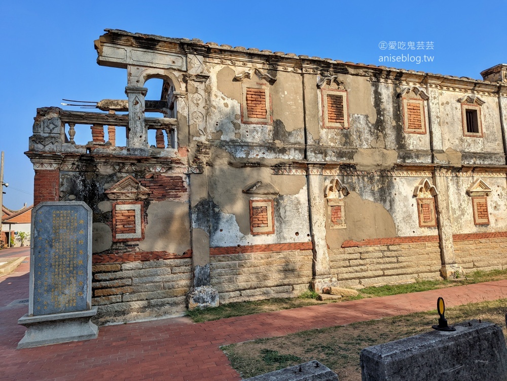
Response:
[[[489,225],[474,225],[472,197],[466,195],[466,190],[470,185],[479,179],[492,189],[488,196]],[[507,231],[507,214],[505,213],[507,181],[504,176],[481,177],[478,174],[473,177],[449,177],[447,184],[453,234]]]

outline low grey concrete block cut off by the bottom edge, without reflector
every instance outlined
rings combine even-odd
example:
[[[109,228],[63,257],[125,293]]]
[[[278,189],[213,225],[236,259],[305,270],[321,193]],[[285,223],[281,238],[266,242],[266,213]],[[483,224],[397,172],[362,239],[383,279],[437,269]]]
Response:
[[[244,381],[338,381],[338,375],[317,360],[275,370]]]

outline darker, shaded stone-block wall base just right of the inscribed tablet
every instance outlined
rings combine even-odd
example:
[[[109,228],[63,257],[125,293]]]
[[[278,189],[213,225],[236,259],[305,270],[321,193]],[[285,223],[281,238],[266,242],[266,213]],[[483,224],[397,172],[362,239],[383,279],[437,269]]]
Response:
[[[192,259],[93,265],[99,324],[151,319],[185,311]]]

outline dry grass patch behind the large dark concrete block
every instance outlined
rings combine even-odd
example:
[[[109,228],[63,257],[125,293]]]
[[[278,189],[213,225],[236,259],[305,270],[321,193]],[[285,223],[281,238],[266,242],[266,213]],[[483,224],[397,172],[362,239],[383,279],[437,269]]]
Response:
[[[449,324],[482,319],[505,330],[507,299],[447,308]],[[232,366],[246,377],[318,360],[335,371],[340,381],[360,381],[361,349],[431,330],[436,311],[370,320],[332,328],[313,329],[282,337],[271,337],[224,346]]]

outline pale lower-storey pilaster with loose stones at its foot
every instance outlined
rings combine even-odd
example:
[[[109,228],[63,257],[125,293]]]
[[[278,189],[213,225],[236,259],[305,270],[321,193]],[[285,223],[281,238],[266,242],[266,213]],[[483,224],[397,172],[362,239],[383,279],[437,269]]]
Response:
[[[325,200],[324,163],[308,164],[308,207],[310,215],[310,234],[312,237],[312,281],[315,292],[322,293],[322,288],[337,286],[336,277],[331,275],[329,265],[328,244],[325,240]]]

